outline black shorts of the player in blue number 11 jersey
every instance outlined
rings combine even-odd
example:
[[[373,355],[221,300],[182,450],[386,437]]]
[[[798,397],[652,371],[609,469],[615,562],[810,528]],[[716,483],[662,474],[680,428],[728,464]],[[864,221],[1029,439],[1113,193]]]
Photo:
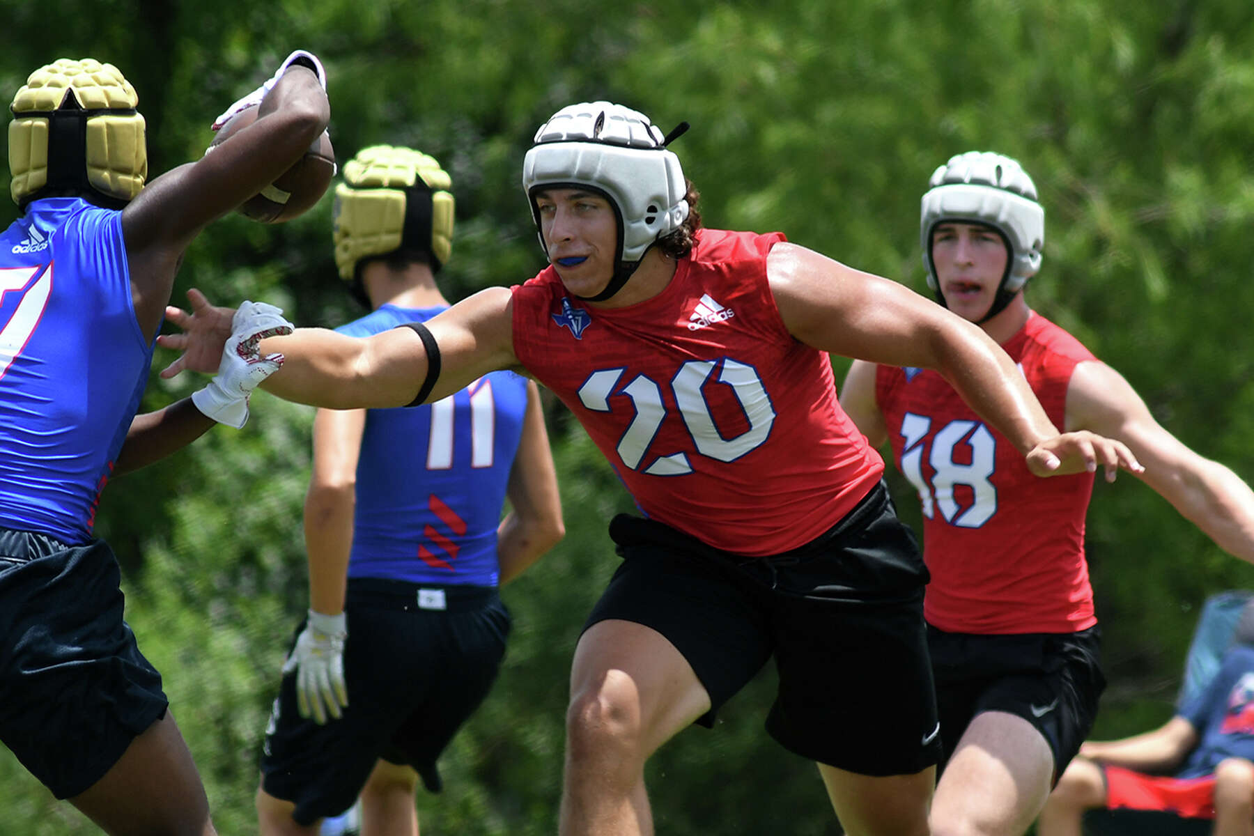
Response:
[[[420,605],[440,599],[445,609]],[[345,613],[344,716],[325,726],[303,719],[292,672],[266,728],[262,786],[293,802],[302,826],[351,807],[379,758],[414,767],[439,792],[435,761],[488,696],[510,625],[490,587],[351,578]]]

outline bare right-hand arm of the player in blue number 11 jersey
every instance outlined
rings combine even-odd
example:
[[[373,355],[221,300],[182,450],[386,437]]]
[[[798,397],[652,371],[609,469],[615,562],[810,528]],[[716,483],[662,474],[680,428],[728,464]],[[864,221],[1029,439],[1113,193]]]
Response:
[[[505,584],[535,563],[566,535],[557,471],[544,429],[544,410],[534,381],[527,384],[523,437],[507,488],[510,510],[497,528],[500,583]]]

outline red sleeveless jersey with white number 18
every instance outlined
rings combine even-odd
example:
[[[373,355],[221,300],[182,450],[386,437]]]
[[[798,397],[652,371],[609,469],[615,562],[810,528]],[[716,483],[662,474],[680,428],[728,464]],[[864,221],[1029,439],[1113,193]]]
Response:
[[[1004,346],[1055,426],[1093,356],[1032,313]],[[1097,623],[1085,560],[1093,475],[1041,479],[934,371],[880,366],[875,399],[923,503],[928,623],[954,633],[1071,633]]]

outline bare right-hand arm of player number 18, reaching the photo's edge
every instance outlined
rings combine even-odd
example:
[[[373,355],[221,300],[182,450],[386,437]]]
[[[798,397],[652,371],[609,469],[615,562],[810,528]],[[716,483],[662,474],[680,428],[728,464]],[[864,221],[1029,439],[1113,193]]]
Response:
[[[1076,366],[1067,429],[1119,439],[1145,473],[1137,476],[1221,549],[1254,563],[1254,491],[1240,476],[1194,452],[1154,420],[1136,390],[1104,362]]]

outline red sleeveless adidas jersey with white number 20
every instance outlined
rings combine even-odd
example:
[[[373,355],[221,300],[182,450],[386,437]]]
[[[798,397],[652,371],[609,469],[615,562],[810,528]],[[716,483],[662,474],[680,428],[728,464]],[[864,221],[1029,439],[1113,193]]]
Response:
[[[780,233],[702,229],[653,298],[596,308],[549,267],[515,286],[514,353],[574,412],[650,518],[760,556],[848,514],[884,464],[835,399],[828,355],[785,328]]]

